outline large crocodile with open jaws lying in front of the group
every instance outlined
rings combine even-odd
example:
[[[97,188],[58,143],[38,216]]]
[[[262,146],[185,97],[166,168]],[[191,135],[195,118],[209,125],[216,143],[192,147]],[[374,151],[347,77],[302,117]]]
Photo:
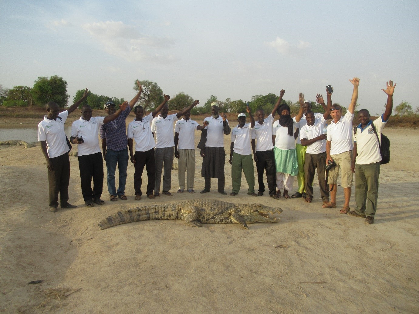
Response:
[[[233,204],[217,199],[193,199],[172,204],[153,204],[119,211],[98,223],[101,230],[129,222],[144,220],[184,220],[186,225],[238,223],[248,229],[248,223],[278,222],[280,208],[262,204]]]

